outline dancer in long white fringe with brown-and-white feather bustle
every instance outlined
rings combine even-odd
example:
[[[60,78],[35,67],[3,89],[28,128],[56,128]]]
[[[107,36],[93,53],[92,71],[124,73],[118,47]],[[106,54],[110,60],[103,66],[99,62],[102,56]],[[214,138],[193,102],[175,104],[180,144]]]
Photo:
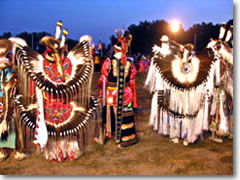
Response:
[[[194,143],[209,128],[209,98],[214,87],[214,53],[195,54],[192,44],[181,45],[162,36],[154,45],[145,82],[153,93],[150,125],[174,143]]]

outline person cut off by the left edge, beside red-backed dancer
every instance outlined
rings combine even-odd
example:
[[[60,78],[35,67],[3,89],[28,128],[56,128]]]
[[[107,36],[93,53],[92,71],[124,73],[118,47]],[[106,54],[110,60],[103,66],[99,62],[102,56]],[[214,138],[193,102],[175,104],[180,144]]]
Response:
[[[23,41],[23,40],[22,40]],[[0,40],[0,161],[8,157],[5,149],[16,149],[17,160],[27,157],[20,121],[15,116],[16,74],[12,70],[10,51],[14,51],[13,38]]]

